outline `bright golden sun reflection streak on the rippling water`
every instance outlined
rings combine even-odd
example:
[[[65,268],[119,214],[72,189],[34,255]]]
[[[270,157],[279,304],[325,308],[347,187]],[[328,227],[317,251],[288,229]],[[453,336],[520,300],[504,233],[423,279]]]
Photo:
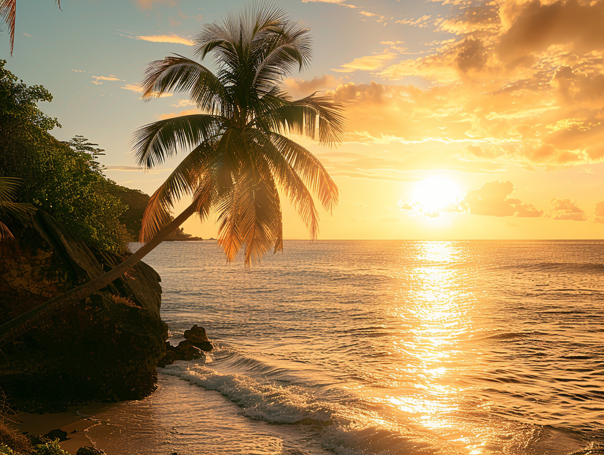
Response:
[[[459,418],[471,410],[472,401],[464,371],[476,369],[479,362],[469,344],[476,302],[466,286],[471,271],[450,266],[466,260],[464,254],[454,242],[417,244],[416,260],[405,275],[408,285],[402,286],[392,309],[407,328],[407,338],[393,340],[393,345],[410,393],[387,396],[383,402],[452,450],[478,455],[484,434]]]

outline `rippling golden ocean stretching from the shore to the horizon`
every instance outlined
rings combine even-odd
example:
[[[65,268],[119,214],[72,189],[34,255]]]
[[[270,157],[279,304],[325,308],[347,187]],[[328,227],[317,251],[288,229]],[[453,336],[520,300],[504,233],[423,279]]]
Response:
[[[604,453],[604,242],[289,240],[246,269],[164,242],[177,344],[142,401],[89,407],[111,455]]]

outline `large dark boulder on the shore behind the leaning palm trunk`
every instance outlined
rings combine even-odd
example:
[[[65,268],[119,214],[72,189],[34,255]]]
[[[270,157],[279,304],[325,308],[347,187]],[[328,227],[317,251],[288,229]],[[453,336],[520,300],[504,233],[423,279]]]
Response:
[[[37,211],[0,244],[0,321],[88,282],[123,258],[85,245]],[[143,262],[91,297],[2,346],[0,389],[13,407],[137,399],[155,389],[167,326],[158,274]]]

